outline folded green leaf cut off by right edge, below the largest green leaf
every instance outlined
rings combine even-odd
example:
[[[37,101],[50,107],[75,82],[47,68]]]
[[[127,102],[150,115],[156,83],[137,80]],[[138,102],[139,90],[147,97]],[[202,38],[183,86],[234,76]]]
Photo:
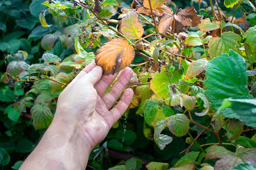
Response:
[[[223,101],[220,111],[230,109],[233,117],[238,117],[247,126],[256,128],[256,100],[255,99],[226,99]]]

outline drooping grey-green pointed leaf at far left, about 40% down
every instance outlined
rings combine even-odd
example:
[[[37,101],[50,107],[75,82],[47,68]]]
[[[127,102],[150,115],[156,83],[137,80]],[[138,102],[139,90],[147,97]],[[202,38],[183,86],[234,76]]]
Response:
[[[24,65],[26,65],[24,61],[12,61],[8,64],[6,72],[16,78],[24,70]]]

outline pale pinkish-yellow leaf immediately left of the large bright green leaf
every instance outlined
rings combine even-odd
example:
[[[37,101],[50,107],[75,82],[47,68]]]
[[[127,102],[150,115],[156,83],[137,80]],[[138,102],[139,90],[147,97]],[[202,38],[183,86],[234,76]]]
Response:
[[[186,79],[190,79],[193,76],[199,75],[207,68],[207,59],[197,59],[196,61],[192,61],[188,67]]]

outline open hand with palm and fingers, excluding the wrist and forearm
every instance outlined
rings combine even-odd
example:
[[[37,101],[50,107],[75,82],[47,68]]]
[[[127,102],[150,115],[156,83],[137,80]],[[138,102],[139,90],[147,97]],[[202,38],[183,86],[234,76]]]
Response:
[[[90,63],[61,92],[57,101],[53,122],[61,120],[67,127],[81,131],[91,150],[106,137],[132,100],[133,90],[130,88],[122,95],[133,75],[130,68],[122,71],[113,87],[105,94],[117,74],[102,76],[101,67],[94,62]],[[119,102],[112,108],[121,95]]]

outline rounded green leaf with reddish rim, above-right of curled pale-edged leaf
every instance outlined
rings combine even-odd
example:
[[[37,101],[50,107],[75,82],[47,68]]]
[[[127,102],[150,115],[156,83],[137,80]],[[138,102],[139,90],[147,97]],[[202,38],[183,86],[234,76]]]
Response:
[[[171,133],[177,137],[182,137],[188,133],[189,120],[184,114],[177,113],[174,116],[168,117],[170,121],[167,122]]]

